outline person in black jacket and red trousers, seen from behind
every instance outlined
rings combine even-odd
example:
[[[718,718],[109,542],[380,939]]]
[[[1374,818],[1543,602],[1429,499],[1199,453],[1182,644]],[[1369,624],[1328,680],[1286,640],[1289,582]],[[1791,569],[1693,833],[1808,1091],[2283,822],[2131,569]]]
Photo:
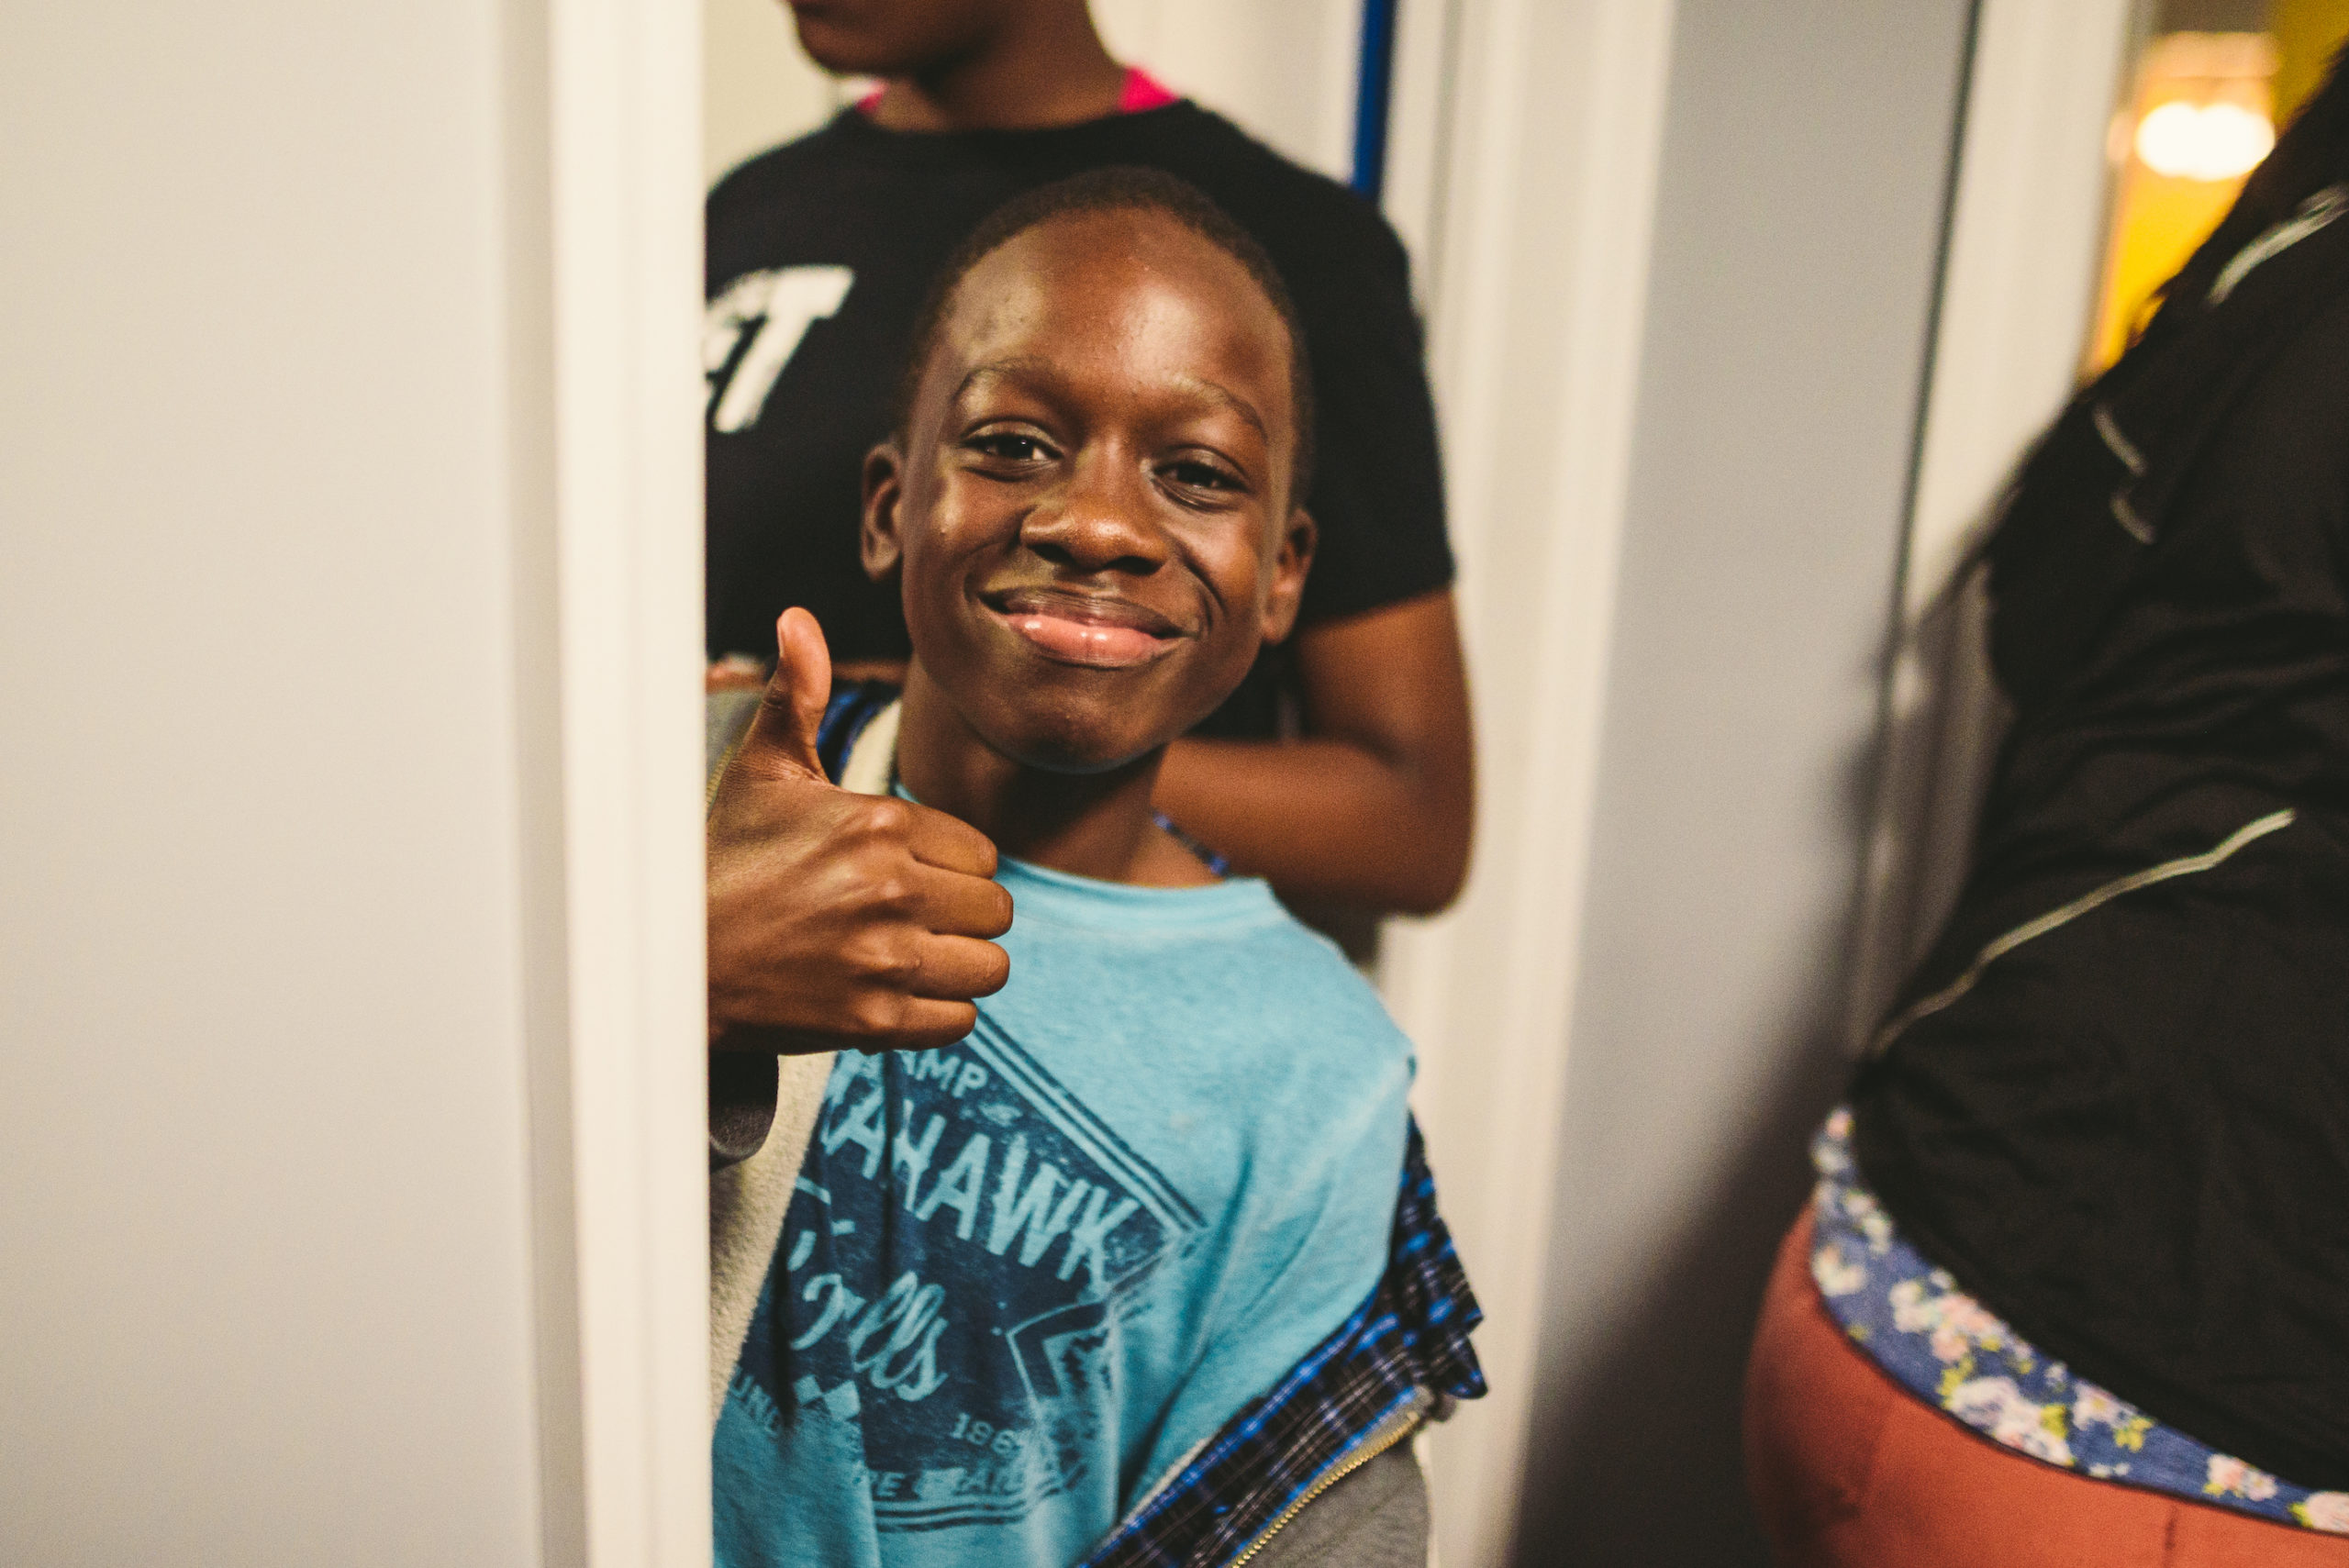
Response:
[[[2013,730],[1813,1150],[1757,1502],[1792,1563],[2349,1563],[2340,61],[1987,568]]]

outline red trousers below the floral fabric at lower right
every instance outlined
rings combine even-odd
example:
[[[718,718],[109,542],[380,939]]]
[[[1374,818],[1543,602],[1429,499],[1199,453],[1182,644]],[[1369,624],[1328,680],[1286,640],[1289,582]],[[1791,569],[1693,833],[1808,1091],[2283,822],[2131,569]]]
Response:
[[[1809,1209],[1745,1366],[1745,1486],[1790,1568],[2349,1568],[2349,1535],[2041,1465],[1924,1404],[1828,1317]]]

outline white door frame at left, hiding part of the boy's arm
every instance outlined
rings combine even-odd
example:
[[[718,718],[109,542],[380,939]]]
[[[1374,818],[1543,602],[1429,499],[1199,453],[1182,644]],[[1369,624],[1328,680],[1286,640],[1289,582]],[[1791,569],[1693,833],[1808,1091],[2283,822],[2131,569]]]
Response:
[[[517,279],[552,286],[561,885],[533,962],[547,1563],[709,1561],[700,14],[510,0]],[[536,221],[533,221],[536,214]],[[533,254],[543,265],[531,265]],[[526,289],[517,282],[517,298]],[[519,315],[519,310],[517,310]],[[540,401],[547,401],[540,397]],[[524,615],[524,636],[531,631]],[[529,664],[531,650],[519,650]],[[524,695],[531,695],[524,678]]]

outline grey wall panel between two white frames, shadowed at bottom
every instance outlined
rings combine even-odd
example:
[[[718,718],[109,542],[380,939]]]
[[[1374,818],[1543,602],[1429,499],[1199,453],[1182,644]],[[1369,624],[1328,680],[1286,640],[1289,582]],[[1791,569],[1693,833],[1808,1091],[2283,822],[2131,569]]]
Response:
[[[1738,1378],[1846,1073],[1968,9],[1680,0],[1525,1563],[1762,1561]]]

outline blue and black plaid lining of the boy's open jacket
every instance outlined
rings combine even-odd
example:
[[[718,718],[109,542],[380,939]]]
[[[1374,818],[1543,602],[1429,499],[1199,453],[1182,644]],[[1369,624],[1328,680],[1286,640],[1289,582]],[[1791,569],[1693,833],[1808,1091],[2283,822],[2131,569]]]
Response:
[[[1421,1390],[1485,1392],[1468,1331],[1485,1314],[1435,1214],[1419,1124],[1402,1153],[1402,1192],[1386,1277],[1337,1333],[1128,1514],[1083,1568],[1217,1568],[1346,1460]]]

